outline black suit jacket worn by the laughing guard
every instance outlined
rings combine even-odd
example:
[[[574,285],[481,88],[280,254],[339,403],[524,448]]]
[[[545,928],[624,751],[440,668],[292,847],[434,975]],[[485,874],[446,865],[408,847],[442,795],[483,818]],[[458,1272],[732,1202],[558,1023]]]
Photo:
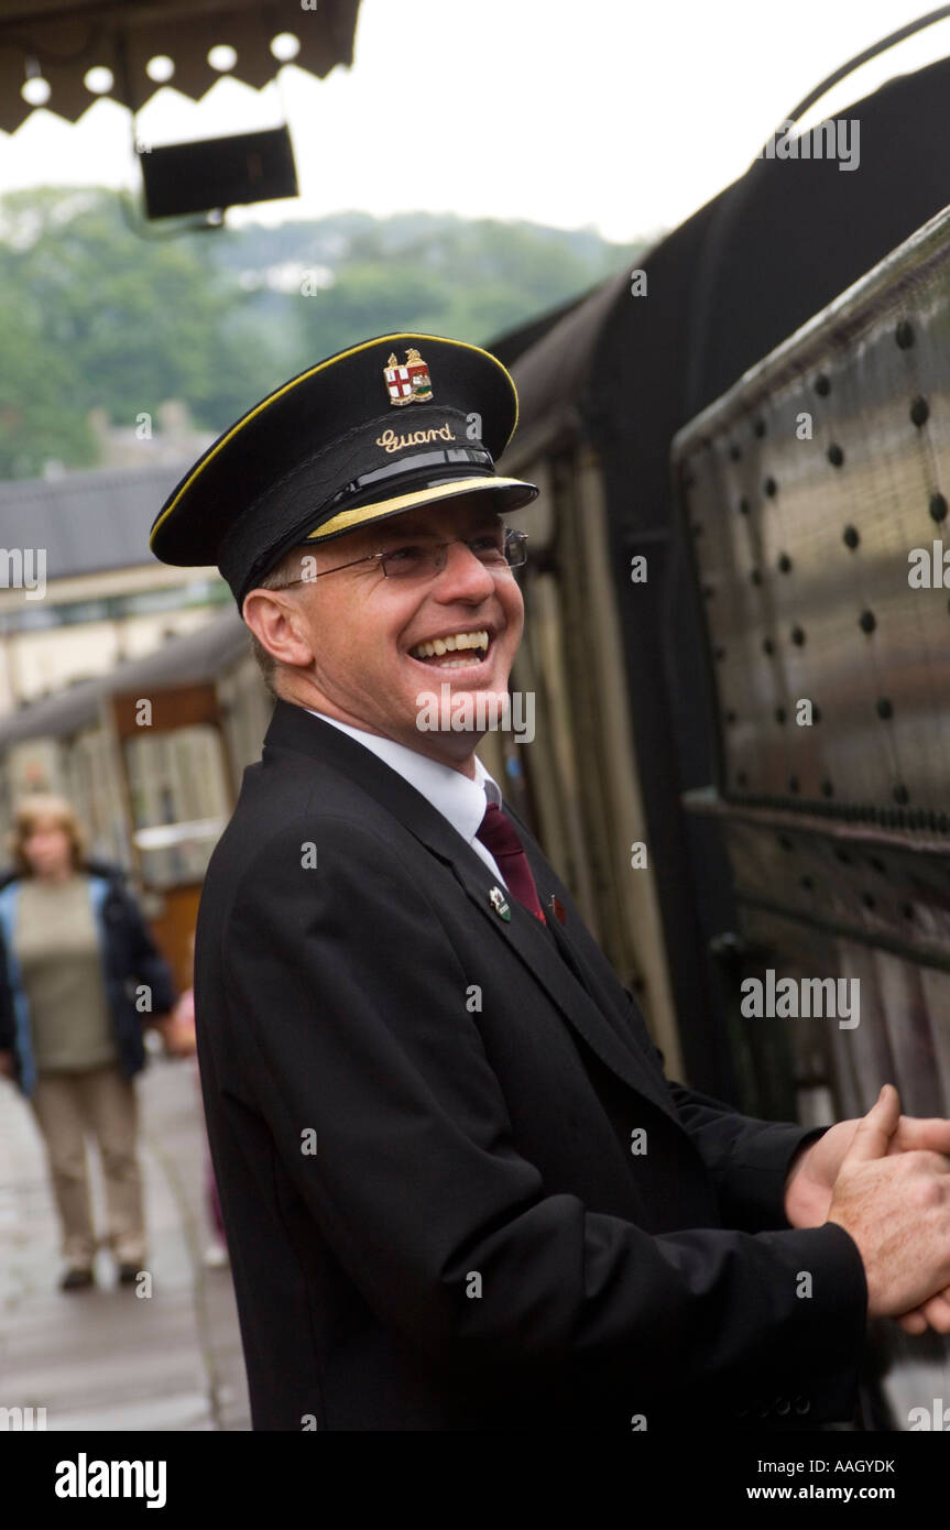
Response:
[[[245,771],[196,1014],[254,1427],[851,1417],[861,1258],[783,1215],[811,1134],[667,1083],[516,822],[563,927],[300,707]]]

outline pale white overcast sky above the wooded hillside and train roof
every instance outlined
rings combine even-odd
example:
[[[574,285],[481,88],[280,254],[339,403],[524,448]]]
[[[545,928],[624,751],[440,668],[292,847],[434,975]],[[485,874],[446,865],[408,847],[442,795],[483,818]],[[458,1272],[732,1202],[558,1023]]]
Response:
[[[693,213],[812,86],[924,9],[918,0],[363,0],[352,70],[320,81],[289,66],[260,93],[222,80],[197,104],[164,89],[139,136],[213,138],[286,115],[300,199],[233,211],[229,223],[422,208],[633,239]],[[286,0],[288,20],[298,15]],[[814,115],[944,54],[950,21],[866,66]],[[0,191],[90,181],[138,185],[130,119],[113,103],[98,101],[75,125],[37,112],[15,135],[0,133]]]

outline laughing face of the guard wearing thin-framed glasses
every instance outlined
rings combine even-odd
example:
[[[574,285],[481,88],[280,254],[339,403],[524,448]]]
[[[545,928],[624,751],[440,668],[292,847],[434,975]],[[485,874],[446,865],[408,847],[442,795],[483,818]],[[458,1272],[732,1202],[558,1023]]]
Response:
[[[532,493],[526,485],[525,497]],[[346,560],[333,557],[341,546]],[[453,695],[500,713],[525,621],[508,560],[523,555],[523,534],[506,531],[490,496],[467,493],[318,552],[294,548],[243,615],[283,666],[285,699],[474,779],[471,734],[453,730],[451,716],[447,728],[422,727],[425,702],[450,678]],[[317,641],[298,601],[274,598],[278,589],[320,609]]]

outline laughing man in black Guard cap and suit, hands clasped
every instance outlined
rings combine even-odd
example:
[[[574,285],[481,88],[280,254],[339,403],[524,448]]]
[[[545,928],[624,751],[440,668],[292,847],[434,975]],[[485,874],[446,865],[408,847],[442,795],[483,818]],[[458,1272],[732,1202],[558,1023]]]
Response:
[[[950,1123],[828,1131],[662,1073],[480,763],[525,539],[511,378],[386,335],[225,431],[151,534],[275,695],[202,892],[196,1017],[255,1429],[814,1427],[869,1316],[950,1330]]]

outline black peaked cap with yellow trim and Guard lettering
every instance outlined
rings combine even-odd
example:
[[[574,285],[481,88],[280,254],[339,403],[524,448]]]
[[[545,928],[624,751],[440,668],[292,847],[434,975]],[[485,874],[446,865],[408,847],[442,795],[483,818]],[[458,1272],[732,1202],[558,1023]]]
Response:
[[[162,505],[164,563],[217,565],[239,607],[292,546],[454,494],[537,496],[494,462],[517,424],[506,369],[439,335],[364,340],[291,378],[214,441]]]

